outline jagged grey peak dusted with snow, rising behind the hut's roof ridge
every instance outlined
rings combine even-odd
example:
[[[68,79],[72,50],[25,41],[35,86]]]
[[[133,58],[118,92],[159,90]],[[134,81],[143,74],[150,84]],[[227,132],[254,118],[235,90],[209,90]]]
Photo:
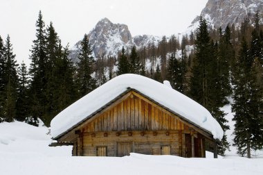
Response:
[[[158,41],[161,40],[161,38],[152,35],[136,35],[132,38],[127,25],[114,24],[107,18],[101,19],[96,24],[89,32],[88,38],[95,58],[104,56],[117,57],[123,47],[125,47],[125,50],[131,49],[133,46],[139,48],[152,42],[158,44]],[[73,61],[78,59],[80,42],[77,42],[71,48],[70,57]]]

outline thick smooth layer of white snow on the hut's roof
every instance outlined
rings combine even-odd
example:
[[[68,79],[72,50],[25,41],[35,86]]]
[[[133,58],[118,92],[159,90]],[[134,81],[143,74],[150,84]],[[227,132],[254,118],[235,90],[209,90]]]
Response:
[[[57,138],[69,131],[129,88],[165,106],[172,113],[183,117],[195,126],[210,132],[213,138],[219,140],[223,138],[224,132],[221,126],[206,108],[173,90],[169,85],[136,74],[117,76],[64,109],[51,121],[51,135]]]

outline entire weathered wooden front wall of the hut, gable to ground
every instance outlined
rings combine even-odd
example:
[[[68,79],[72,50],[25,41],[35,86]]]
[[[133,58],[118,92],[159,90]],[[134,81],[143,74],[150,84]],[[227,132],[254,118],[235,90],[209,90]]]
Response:
[[[124,156],[135,152],[191,157],[194,140],[197,156],[205,156],[203,136],[197,136],[191,125],[132,93],[82,124],[79,131],[74,156]]]

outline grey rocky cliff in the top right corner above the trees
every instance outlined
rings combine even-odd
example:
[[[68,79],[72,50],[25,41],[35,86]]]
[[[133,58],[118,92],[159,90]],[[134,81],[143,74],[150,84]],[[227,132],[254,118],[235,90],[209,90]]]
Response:
[[[244,17],[253,17],[255,12],[263,12],[263,0],[208,0],[201,15],[212,27],[226,28],[228,24],[239,26]],[[196,17],[190,27],[196,26],[199,17]]]

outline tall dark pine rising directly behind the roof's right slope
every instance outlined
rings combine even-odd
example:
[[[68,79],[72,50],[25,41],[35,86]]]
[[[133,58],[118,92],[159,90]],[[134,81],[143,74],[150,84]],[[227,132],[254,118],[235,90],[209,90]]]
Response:
[[[194,66],[192,67],[192,76],[190,78],[190,96],[195,101],[201,103],[217,119],[217,122],[223,128],[224,133],[229,126],[224,119],[226,114],[219,110],[222,107],[222,98],[220,96],[220,83],[217,67],[217,44],[210,41],[208,26],[206,20],[201,17],[200,25],[197,31],[196,53]],[[226,142],[226,135],[219,143],[219,153],[224,154],[229,144]]]

